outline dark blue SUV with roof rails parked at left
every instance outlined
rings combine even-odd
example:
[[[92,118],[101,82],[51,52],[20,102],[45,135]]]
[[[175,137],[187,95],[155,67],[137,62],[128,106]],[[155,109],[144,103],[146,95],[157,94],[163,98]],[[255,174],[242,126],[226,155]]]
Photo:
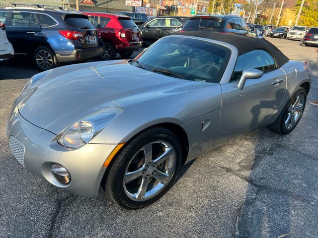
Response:
[[[100,34],[84,14],[37,5],[0,9],[0,18],[15,56],[33,60],[40,70],[103,54]]]

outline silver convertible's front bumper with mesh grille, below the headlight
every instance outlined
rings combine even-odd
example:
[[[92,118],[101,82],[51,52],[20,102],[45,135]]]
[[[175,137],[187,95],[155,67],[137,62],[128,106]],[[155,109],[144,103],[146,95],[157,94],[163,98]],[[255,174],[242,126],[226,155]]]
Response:
[[[32,174],[56,187],[79,196],[96,197],[106,170],[103,164],[116,145],[86,144],[67,149],[57,142],[57,135],[24,119],[17,111],[17,101],[12,109],[17,112],[15,120],[7,132],[9,148],[16,159]],[[62,184],[53,176],[52,164],[62,165],[70,172],[69,184]]]

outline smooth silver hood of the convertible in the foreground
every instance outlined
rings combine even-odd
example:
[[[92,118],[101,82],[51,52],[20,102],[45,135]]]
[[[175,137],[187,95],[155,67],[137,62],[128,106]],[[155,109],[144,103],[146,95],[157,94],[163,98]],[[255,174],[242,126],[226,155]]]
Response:
[[[75,64],[33,76],[18,108],[31,123],[59,134],[84,117],[109,107],[126,108],[146,100],[189,92],[205,83],[168,77],[123,60]],[[205,113],[205,112],[202,112]]]

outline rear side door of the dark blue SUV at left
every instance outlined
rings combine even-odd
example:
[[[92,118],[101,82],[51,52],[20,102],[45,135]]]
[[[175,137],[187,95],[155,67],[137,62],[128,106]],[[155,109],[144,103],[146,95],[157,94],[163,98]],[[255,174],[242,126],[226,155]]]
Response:
[[[36,20],[35,13],[28,11],[12,11],[8,26],[6,27],[7,38],[12,44],[14,54],[32,54],[31,46],[34,35],[41,31]]]

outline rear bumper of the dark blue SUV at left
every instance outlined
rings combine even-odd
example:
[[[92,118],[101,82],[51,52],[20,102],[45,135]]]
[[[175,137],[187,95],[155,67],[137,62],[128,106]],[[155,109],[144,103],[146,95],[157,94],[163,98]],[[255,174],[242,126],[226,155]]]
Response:
[[[96,47],[95,49],[89,50],[76,49],[70,55],[56,54],[56,58],[59,62],[81,61],[100,56],[103,52],[104,47]]]

